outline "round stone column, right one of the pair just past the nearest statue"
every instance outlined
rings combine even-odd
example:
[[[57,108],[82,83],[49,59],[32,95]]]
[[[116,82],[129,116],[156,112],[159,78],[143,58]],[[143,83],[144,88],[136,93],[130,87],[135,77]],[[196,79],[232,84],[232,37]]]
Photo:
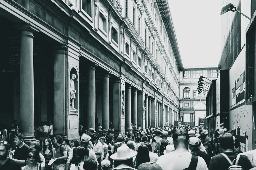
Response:
[[[102,128],[109,128],[109,72],[103,76]]]

